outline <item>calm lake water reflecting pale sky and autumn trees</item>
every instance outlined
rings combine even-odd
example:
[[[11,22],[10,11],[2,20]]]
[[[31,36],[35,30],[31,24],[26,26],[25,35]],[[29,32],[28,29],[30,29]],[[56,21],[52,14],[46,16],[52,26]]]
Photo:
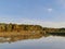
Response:
[[[0,49],[65,49],[65,37],[0,37]]]

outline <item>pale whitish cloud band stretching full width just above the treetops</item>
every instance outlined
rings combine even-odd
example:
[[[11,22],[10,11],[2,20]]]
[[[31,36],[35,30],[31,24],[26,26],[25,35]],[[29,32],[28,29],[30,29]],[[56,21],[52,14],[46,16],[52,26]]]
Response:
[[[12,17],[0,17],[0,23],[17,23],[17,24],[32,24],[32,25],[41,25],[43,27],[65,27],[65,22],[46,22],[41,20],[34,19],[12,19]]]

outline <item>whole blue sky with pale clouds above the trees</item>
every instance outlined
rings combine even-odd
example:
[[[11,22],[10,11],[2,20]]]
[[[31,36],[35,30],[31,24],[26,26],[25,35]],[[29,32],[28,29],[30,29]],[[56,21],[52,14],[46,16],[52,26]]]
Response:
[[[65,0],[0,0],[0,22],[65,27]]]

